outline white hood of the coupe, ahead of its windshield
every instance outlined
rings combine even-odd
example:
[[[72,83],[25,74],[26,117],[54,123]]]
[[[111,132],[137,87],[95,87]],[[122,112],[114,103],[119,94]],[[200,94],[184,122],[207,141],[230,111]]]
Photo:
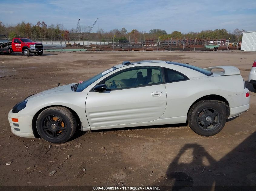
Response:
[[[31,95],[29,97],[27,97],[25,100],[29,100],[31,98],[34,98],[34,97],[39,97],[39,96],[43,96],[43,95],[48,95],[48,94],[62,94],[62,93],[67,93],[67,92],[71,92],[71,86],[74,85],[75,83],[73,84],[68,84],[68,85],[63,85],[63,86],[58,86],[58,87],[55,87],[55,88],[52,88],[52,89],[49,89],[49,90],[45,90],[45,91],[41,91],[37,94],[34,94],[34,95]]]

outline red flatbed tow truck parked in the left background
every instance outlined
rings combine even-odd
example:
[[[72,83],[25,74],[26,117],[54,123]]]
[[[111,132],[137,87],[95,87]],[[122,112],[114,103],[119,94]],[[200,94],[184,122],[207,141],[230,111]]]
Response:
[[[27,38],[13,38],[12,42],[0,42],[0,52],[23,53],[25,56],[34,53],[42,56],[44,48],[41,43],[35,43]]]

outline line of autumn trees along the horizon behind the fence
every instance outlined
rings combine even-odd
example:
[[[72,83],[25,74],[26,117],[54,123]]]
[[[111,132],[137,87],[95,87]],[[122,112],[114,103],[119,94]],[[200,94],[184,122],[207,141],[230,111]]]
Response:
[[[161,29],[151,29],[149,32],[138,31],[133,29],[128,32],[125,27],[122,29],[113,29],[110,31],[105,31],[104,29],[98,29],[96,33],[88,33],[90,26],[80,25],[78,28],[71,30],[66,30],[63,24],[50,24],[47,25],[44,21],[38,21],[37,24],[26,23],[25,21],[12,26],[7,24],[5,26],[0,21],[0,35],[6,35],[10,40],[14,37],[25,37],[34,40],[163,40],[163,39],[227,39],[230,41],[241,41],[242,32],[244,30],[235,29],[233,32],[229,32],[226,29],[216,29],[216,30],[203,30],[201,32],[189,32],[182,33],[180,31],[173,31],[172,33],[167,33],[165,30]]]

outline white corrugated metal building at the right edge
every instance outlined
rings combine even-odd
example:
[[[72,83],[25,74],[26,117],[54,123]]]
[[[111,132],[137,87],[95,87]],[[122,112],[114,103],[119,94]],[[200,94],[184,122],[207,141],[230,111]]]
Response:
[[[256,51],[256,31],[243,32],[241,50]]]

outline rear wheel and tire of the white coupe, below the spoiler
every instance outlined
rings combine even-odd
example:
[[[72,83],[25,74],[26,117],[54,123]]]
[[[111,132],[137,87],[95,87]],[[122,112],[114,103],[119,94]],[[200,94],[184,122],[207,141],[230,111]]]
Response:
[[[223,129],[226,123],[224,103],[202,100],[195,103],[188,112],[188,125],[198,135],[213,136]]]

